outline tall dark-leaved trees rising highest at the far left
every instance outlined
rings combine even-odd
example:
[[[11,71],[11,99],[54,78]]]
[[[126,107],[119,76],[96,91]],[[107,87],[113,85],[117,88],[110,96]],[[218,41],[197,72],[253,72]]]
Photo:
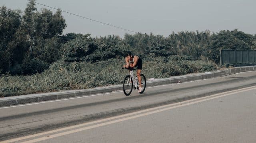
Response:
[[[35,5],[35,0],[29,1],[23,16],[20,10],[0,7],[0,72],[22,73],[17,67],[25,67],[30,59],[48,65],[60,58],[59,37],[66,27],[61,10],[39,12]]]

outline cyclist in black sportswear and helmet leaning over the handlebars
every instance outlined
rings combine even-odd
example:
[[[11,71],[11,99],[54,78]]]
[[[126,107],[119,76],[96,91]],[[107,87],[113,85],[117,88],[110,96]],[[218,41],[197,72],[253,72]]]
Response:
[[[124,65],[124,68],[126,68],[126,69],[128,69],[129,67],[134,68],[134,67],[138,66],[138,68],[137,68],[137,77],[138,77],[138,82],[139,82],[138,92],[141,92],[142,86],[141,86],[140,72],[142,70],[142,59],[138,55],[132,55],[132,53],[130,51],[128,51],[125,56],[125,62],[126,62],[126,65]]]

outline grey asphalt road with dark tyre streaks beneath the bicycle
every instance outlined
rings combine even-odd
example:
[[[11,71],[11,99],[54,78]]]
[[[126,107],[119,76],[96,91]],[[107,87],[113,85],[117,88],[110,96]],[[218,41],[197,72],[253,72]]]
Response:
[[[255,81],[256,71],[242,72],[150,87],[144,94],[134,90],[130,96],[114,92],[0,108],[0,140],[255,143]]]

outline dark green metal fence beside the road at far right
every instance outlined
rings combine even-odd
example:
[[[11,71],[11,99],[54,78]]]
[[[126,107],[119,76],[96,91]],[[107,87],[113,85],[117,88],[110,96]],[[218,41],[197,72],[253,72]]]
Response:
[[[250,65],[256,64],[254,50],[221,50],[220,65]]]

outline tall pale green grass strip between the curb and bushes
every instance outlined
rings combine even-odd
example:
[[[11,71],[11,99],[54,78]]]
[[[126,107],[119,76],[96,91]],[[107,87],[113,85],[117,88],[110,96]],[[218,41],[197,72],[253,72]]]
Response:
[[[122,70],[124,61],[109,59],[97,63],[65,63],[58,61],[42,73],[26,76],[0,77],[0,95],[16,96],[59,90],[88,89],[122,84],[128,71]],[[204,61],[168,61],[156,58],[143,61],[142,73],[146,78],[167,78],[170,76],[212,71],[214,63]]]

